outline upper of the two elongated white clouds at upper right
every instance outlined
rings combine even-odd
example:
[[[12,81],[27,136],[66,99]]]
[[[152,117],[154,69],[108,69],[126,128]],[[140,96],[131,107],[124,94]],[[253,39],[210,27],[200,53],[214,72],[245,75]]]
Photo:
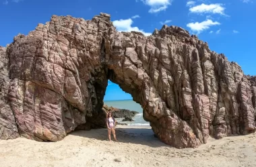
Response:
[[[197,5],[189,8],[189,11],[192,13],[218,13],[220,15],[226,15],[224,13],[225,7],[223,7],[222,3],[215,3],[210,5],[205,5],[202,3],[201,5]]]

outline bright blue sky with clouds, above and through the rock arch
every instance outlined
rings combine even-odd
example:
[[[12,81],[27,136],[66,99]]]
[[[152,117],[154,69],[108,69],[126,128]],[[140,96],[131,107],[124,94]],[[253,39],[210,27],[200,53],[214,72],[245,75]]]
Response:
[[[181,26],[211,50],[238,62],[245,74],[256,75],[256,0],[0,0],[0,46],[19,33],[28,34],[51,15],[92,19],[100,12],[110,13],[120,31],[150,35],[164,23]],[[111,99],[131,99],[131,95],[111,83],[105,100]]]

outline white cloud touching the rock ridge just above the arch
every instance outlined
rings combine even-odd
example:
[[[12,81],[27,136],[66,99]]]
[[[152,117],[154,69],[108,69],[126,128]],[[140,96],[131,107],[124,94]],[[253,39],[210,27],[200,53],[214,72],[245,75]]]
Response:
[[[131,18],[115,20],[115,21],[113,21],[113,24],[115,27],[117,27],[117,31],[119,31],[119,32],[135,31],[135,32],[141,32],[145,36],[152,35],[152,33],[148,33],[148,32],[144,32],[143,30],[139,30],[138,27],[132,27],[131,25],[133,24],[133,20]]]

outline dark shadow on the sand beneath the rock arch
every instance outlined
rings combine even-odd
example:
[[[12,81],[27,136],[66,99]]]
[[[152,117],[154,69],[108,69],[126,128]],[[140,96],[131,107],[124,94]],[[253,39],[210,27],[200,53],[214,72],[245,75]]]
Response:
[[[148,128],[122,128],[117,127],[116,129],[117,140],[119,143],[130,143],[150,146],[152,148],[158,147],[170,147],[154,137],[152,129]],[[108,142],[108,131],[107,129],[92,129],[90,131],[73,131],[70,135],[77,135],[80,137],[88,137],[90,139],[96,139]],[[111,134],[111,140],[114,140]]]

